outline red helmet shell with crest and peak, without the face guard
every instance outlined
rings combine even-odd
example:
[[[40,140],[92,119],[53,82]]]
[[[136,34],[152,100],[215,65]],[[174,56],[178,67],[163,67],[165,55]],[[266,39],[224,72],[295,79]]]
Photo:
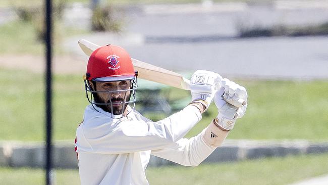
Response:
[[[132,60],[126,50],[117,45],[105,45],[89,57],[86,79],[93,81],[120,81],[135,79]]]

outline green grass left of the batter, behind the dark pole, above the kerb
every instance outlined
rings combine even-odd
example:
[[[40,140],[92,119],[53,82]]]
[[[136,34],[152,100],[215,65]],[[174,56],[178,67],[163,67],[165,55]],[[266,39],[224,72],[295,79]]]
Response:
[[[43,76],[24,71],[1,69],[0,140],[41,141],[44,138]],[[83,93],[82,77],[54,76],[54,139],[73,140],[77,125],[88,104]]]

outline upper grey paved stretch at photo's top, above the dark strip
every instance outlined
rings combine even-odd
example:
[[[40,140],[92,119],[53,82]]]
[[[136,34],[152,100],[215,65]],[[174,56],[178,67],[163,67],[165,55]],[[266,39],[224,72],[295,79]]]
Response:
[[[201,4],[149,5],[137,10],[128,9],[123,20],[126,21],[125,30],[147,36],[235,36],[239,29],[256,26],[302,26],[328,21],[328,2],[290,2],[232,2],[209,7]]]

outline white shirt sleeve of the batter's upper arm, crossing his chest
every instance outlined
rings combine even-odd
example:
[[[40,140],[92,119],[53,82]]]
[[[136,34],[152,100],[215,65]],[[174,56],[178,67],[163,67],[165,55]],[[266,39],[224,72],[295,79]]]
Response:
[[[106,122],[105,116],[93,117],[77,129],[78,152],[122,154],[158,150],[179,141],[201,119],[195,106],[166,119],[152,122],[131,120]]]

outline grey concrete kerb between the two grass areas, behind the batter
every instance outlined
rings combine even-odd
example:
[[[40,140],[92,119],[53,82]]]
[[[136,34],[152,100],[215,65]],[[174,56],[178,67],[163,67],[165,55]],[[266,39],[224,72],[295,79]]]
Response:
[[[226,140],[204,160],[204,163],[327,152],[328,142]],[[0,166],[43,167],[44,161],[44,143],[0,142]],[[77,164],[77,155],[72,142],[57,142],[53,145],[54,167],[77,168]],[[151,156],[148,166],[174,164],[171,161]]]

